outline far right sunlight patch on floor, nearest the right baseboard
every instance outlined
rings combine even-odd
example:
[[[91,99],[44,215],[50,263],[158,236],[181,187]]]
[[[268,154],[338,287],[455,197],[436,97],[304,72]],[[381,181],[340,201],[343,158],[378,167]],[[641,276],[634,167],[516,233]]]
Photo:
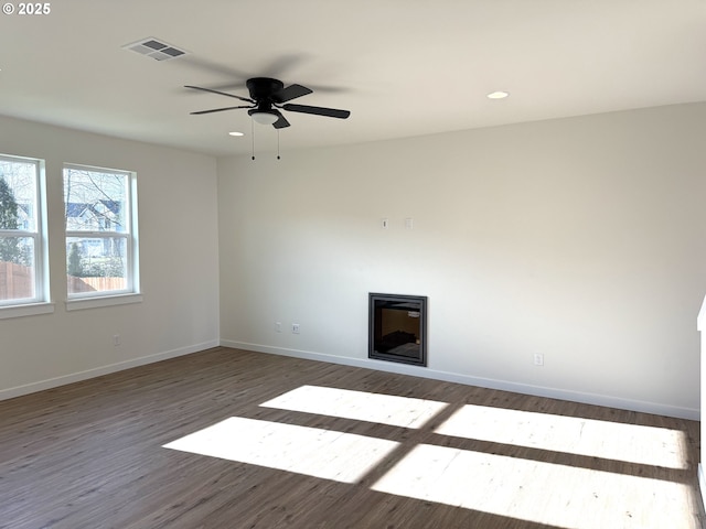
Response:
[[[467,404],[436,433],[668,468],[688,468],[684,432]]]

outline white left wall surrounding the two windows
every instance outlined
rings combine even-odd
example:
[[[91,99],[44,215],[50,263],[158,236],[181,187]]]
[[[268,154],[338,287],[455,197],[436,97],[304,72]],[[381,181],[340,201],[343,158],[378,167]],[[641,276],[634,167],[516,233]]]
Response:
[[[0,153],[46,161],[56,303],[0,320],[0,398],[217,345],[215,159],[3,117]],[[137,172],[142,303],[66,312],[64,162]]]

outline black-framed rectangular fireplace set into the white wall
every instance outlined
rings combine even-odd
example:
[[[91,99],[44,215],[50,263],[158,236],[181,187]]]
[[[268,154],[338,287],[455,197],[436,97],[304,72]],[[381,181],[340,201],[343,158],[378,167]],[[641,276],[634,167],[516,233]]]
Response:
[[[427,365],[427,298],[371,293],[368,358]]]

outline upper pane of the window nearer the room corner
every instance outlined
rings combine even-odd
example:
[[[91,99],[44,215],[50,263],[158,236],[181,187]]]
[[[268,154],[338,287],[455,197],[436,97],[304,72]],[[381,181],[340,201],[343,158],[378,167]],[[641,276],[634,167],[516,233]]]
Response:
[[[86,169],[64,170],[67,231],[128,231],[128,175]]]

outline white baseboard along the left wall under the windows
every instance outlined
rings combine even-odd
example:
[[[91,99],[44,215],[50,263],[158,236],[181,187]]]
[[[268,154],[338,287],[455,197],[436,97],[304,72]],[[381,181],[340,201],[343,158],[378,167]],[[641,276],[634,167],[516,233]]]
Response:
[[[130,369],[131,367],[145,366],[147,364],[153,364],[160,360],[167,360],[169,358],[175,358],[178,356],[189,355],[191,353],[197,353],[200,350],[208,349],[211,347],[217,347],[218,341],[208,341],[201,344],[190,345],[188,347],[180,347],[172,350],[165,350],[157,353],[154,355],[142,356],[133,358],[131,360],[119,361],[117,364],[110,364],[107,366],[96,367],[94,369],[87,369],[85,371],[72,373],[62,377],[50,378],[41,380],[39,382],[25,384],[23,386],[15,386],[14,388],[8,388],[0,390],[0,400],[13,399],[14,397],[22,397],[23,395],[34,393],[36,391],[44,391],[45,389],[56,388],[58,386],[65,386],[67,384],[79,382],[89,378],[101,377],[103,375],[109,375],[111,373],[122,371],[124,369]]]

